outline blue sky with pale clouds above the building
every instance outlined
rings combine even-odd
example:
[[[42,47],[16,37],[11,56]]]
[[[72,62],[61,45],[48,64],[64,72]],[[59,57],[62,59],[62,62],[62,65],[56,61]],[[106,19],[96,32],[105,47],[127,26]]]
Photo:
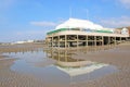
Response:
[[[130,0],[0,0],[0,42],[42,40],[69,17],[130,26]]]

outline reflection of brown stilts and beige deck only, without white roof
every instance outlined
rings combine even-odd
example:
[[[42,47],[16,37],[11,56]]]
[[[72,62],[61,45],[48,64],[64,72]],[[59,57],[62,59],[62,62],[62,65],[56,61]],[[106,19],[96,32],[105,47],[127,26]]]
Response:
[[[56,60],[56,64],[60,66],[80,67],[90,63],[81,59],[73,59],[72,55],[73,53],[68,53],[65,50],[48,51],[48,57]]]

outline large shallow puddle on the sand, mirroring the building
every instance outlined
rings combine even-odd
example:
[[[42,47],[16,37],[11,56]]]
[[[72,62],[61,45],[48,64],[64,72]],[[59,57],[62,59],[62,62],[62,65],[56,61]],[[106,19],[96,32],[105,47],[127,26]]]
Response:
[[[3,54],[17,59],[10,67],[12,71],[37,76],[50,87],[66,87],[72,83],[92,80],[118,71],[113,65],[73,59],[74,53],[67,51],[40,49]]]

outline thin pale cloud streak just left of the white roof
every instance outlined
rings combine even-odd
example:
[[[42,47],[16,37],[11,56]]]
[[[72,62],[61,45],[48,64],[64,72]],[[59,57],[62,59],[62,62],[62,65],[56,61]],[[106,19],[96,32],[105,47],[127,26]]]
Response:
[[[31,25],[35,26],[56,26],[56,23],[53,22],[30,22]]]

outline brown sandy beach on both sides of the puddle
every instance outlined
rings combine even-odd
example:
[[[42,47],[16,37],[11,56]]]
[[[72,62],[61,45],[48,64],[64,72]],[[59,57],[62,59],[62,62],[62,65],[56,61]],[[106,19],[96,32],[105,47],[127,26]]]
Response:
[[[23,50],[34,50],[42,48],[42,45],[29,46],[2,46],[0,47],[0,87],[47,87],[42,79],[32,76],[20,74],[10,70],[15,59],[5,59],[3,52],[14,52]],[[92,53],[82,53],[77,51],[74,59],[83,59],[93,62],[115,65],[118,72],[95,78],[89,82],[72,83],[69,87],[129,87],[130,86],[130,44],[116,46],[114,49],[101,50]]]

